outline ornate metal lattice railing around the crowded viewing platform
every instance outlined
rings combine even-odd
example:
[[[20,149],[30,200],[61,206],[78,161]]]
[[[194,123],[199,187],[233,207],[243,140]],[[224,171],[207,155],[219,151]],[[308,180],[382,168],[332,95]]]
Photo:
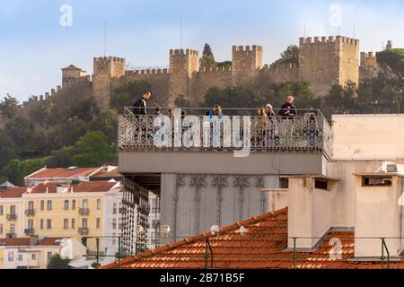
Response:
[[[125,109],[119,116],[119,151],[237,151],[242,147],[234,147],[234,139],[243,140],[248,130],[244,122],[250,126],[250,150],[262,152],[323,152],[330,157],[331,129],[327,119],[318,109],[299,109],[296,117],[258,117],[257,109],[228,109],[224,110],[228,117],[220,117],[220,131],[212,133],[214,121],[212,117],[201,116],[205,112],[200,109],[186,109],[188,115],[195,115],[192,123],[198,125],[199,133],[191,135],[198,146],[174,147],[174,122],[171,119],[171,144],[156,146],[154,135],[161,129],[154,126],[156,116],[134,115],[130,108]],[[277,114],[277,110],[274,110]],[[233,114],[233,116],[232,116]],[[250,116],[254,115],[254,116]],[[312,115],[315,115],[313,119]],[[237,116],[237,117],[235,117]],[[242,116],[250,116],[244,118]],[[179,117],[180,120],[180,117]],[[195,122],[194,122],[195,120]],[[239,120],[239,124],[237,123]],[[192,124],[193,125],[193,124]],[[224,143],[224,126],[232,126],[229,140]],[[189,127],[180,127],[180,138]],[[205,133],[204,133],[205,132]],[[214,135],[212,135],[214,134]],[[206,138],[206,135],[208,137]],[[193,138],[195,136],[196,138]],[[216,138],[215,138],[216,136]],[[215,138],[215,139],[213,139]],[[215,142],[215,144],[213,144]]]

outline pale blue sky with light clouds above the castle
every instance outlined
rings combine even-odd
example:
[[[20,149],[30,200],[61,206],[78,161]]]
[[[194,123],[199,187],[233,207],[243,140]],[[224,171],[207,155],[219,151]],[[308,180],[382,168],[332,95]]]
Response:
[[[304,35],[404,48],[403,13],[402,0],[0,0],[0,97],[44,94],[71,64],[92,74],[104,48],[132,67],[166,67],[180,43],[200,52],[208,43],[220,61],[233,45],[262,45],[266,64]]]

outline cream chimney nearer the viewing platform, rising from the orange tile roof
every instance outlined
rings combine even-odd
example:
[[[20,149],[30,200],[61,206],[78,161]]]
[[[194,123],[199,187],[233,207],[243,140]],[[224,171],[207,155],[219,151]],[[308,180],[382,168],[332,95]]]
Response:
[[[294,248],[294,244],[299,252],[311,252],[318,247],[330,229],[331,201],[337,188],[337,178],[289,177],[288,249]]]

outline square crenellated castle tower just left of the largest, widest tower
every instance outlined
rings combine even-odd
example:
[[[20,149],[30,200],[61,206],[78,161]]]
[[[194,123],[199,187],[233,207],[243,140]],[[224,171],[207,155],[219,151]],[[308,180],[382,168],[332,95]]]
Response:
[[[261,46],[233,46],[232,85],[253,84],[263,63]]]

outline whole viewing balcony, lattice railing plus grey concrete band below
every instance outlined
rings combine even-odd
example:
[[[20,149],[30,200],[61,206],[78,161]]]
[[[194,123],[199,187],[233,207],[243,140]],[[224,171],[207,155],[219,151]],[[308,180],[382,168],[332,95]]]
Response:
[[[293,118],[257,117],[257,109],[224,109],[222,118],[186,110],[193,116],[184,118],[187,127],[180,117],[162,120],[125,109],[119,116],[121,173],[322,174],[331,158],[331,128],[318,109],[300,109]]]

